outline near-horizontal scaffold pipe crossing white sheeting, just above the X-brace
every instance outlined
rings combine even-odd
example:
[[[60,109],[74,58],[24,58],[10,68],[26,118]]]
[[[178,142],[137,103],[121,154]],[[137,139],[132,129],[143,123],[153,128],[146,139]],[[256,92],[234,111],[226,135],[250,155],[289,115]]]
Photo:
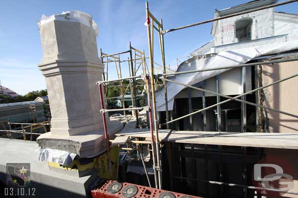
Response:
[[[206,69],[203,69],[203,70],[191,70],[191,71],[185,71],[185,72],[165,73],[165,74],[159,74],[159,76],[168,76],[168,75],[177,75],[177,74],[185,74],[185,73],[195,73],[195,72],[207,72],[207,71],[213,71],[213,70],[223,70],[223,69],[232,69],[232,68],[246,67],[246,66],[283,63],[283,62],[291,62],[291,61],[297,61],[297,60],[298,60],[298,58],[284,58],[284,59],[279,59],[279,60],[270,60],[270,61],[263,61],[263,62],[231,65],[231,66],[226,66],[226,67],[206,68]]]

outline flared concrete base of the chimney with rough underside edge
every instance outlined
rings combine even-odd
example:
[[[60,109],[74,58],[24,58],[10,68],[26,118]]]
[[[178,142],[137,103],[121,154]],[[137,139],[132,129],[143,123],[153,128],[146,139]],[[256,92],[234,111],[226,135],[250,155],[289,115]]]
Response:
[[[109,121],[107,123],[110,137],[113,137],[122,128],[123,125],[118,121]],[[80,158],[94,157],[106,151],[104,129],[72,136],[48,132],[40,135],[36,141],[41,148],[52,148],[76,153]]]

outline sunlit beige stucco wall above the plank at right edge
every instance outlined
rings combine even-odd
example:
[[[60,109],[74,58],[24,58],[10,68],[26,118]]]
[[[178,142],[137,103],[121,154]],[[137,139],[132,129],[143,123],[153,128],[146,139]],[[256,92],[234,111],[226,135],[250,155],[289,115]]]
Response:
[[[298,61],[262,66],[263,85],[298,73]],[[298,115],[298,77],[264,89],[266,107],[280,109]],[[298,133],[298,119],[266,110],[269,132]]]

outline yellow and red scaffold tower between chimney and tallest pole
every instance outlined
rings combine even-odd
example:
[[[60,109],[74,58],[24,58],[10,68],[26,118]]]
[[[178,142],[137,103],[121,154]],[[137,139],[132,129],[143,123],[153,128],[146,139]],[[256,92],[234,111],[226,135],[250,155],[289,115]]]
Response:
[[[123,60],[121,61],[120,59],[120,54],[126,54],[129,53],[129,57],[128,60]],[[134,57],[133,57],[134,54]],[[118,57],[116,57],[116,55],[118,55]],[[109,59],[113,58],[112,59]],[[104,58],[106,58],[106,61],[104,61]],[[112,112],[112,111],[126,111],[126,110],[131,110],[131,111],[136,111],[136,121],[137,121],[137,126],[139,125],[138,123],[138,111],[137,110],[146,110],[149,111],[149,128],[150,128],[150,132],[151,132],[151,146],[152,146],[152,157],[153,157],[153,170],[154,170],[154,179],[155,179],[155,185],[156,187],[159,187],[158,184],[161,182],[159,182],[159,179],[161,179],[161,166],[160,166],[160,159],[159,157],[157,157],[156,159],[156,153],[159,153],[159,141],[158,141],[158,137],[156,137],[156,133],[155,133],[155,137],[153,134],[153,120],[152,120],[152,108],[151,108],[151,96],[150,96],[150,85],[149,83],[151,82],[151,90],[154,90],[154,84],[156,85],[156,82],[153,82],[151,79],[154,80],[153,76],[149,75],[149,68],[146,62],[146,57],[145,56],[145,51],[143,50],[137,50],[136,48],[131,46],[131,43],[129,42],[129,50],[125,51],[125,52],[120,52],[120,53],[115,53],[115,54],[105,54],[102,52],[101,49],[101,59],[103,63],[106,63],[106,72],[104,72],[103,74],[103,81],[97,81],[97,85],[99,86],[99,93],[100,93],[100,102],[101,102],[101,110],[100,112],[103,114],[103,120],[104,120],[104,130],[105,130],[105,137],[106,137],[106,147],[107,147],[107,155],[108,155],[108,166],[109,166],[109,173],[111,174],[111,162],[109,159],[109,150],[110,150],[110,141],[109,141],[109,136],[107,133],[107,126],[106,126],[106,112]],[[140,60],[139,63],[137,63],[136,61]],[[128,70],[129,70],[129,77],[126,78],[122,78],[122,73],[121,73],[121,62],[128,62]],[[116,71],[117,71],[117,76],[118,79],[116,80],[108,80],[108,63],[109,62],[114,62],[115,66],[116,66]],[[118,64],[117,64],[118,63]],[[155,62],[152,62],[155,63]],[[139,64],[137,66],[137,64]],[[155,63],[157,65],[159,65],[158,63]],[[142,66],[142,67],[141,67]],[[138,72],[138,70],[142,68],[142,74],[141,75],[136,75],[136,73]],[[152,73],[152,69],[151,69],[151,73]],[[145,79],[145,84],[143,85],[136,85],[136,78],[144,78]],[[123,103],[123,108],[120,109],[108,109],[107,106],[107,99],[113,99],[113,98],[118,98],[118,97],[112,97],[112,98],[107,98],[107,93],[108,93],[108,83],[110,82],[116,82],[119,81],[120,82],[120,87],[123,88],[123,81],[124,80],[130,80],[128,87],[130,86],[130,90],[131,90],[131,97],[132,98],[132,102],[133,102],[133,107],[132,108],[125,108],[125,104]],[[117,86],[117,85],[116,85]],[[147,95],[148,95],[148,106],[146,107],[136,107],[136,96],[137,96],[137,92],[136,92],[136,86],[146,86],[146,90],[147,90]],[[153,88],[152,88],[153,86]],[[118,87],[118,86],[117,86]],[[125,90],[121,90],[121,95],[122,98],[124,96],[124,93],[128,90],[128,87]],[[103,92],[103,89],[105,89],[105,91]],[[106,95],[106,97],[104,97],[104,95]],[[106,101],[106,106],[104,104],[104,101]],[[123,99],[124,101],[124,99]],[[154,105],[154,102],[153,102]],[[106,107],[106,108],[105,108]],[[156,115],[154,116],[156,117]],[[156,126],[156,124],[155,124]],[[158,141],[158,143],[155,144],[155,142]],[[130,141],[132,143],[135,144],[148,144],[148,141]],[[125,149],[125,148],[124,148]]]

